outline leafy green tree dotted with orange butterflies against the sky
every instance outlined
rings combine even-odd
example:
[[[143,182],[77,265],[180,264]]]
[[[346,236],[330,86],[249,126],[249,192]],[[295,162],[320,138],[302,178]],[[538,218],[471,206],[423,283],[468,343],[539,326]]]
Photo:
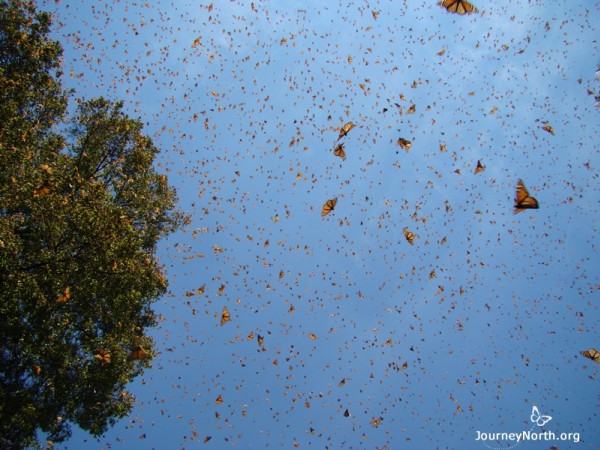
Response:
[[[0,448],[93,435],[125,416],[151,364],[158,240],[185,220],[122,103],[60,83],[51,17],[0,0]]]

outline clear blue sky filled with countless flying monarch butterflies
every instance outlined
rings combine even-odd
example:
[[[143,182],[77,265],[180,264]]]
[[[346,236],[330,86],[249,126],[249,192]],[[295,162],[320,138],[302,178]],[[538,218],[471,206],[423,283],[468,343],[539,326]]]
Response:
[[[131,417],[60,448],[484,449],[534,405],[581,442],[519,448],[596,448],[597,4],[74,3],[39,4],[65,86],[125,100],[192,222]]]

